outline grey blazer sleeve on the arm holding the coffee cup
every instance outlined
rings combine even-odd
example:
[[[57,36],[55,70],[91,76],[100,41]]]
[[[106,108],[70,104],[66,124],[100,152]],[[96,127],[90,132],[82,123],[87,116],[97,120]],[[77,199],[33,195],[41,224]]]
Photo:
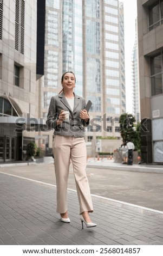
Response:
[[[50,100],[46,123],[50,128],[55,129],[57,127],[57,108],[56,108],[56,102],[54,97],[51,97],[51,100]]]

